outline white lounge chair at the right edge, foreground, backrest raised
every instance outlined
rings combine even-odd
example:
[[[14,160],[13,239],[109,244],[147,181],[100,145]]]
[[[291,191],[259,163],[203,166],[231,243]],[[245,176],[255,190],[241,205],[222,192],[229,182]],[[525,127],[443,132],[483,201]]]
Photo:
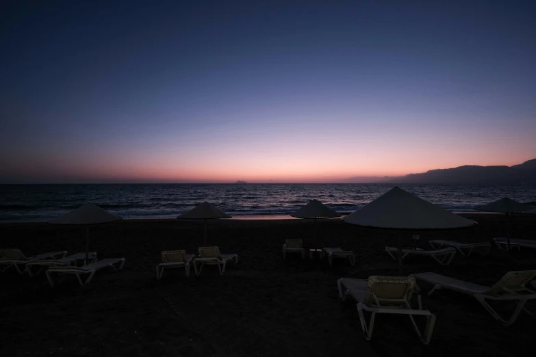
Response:
[[[528,289],[525,285],[536,276],[536,270],[525,270],[520,272],[508,272],[503,276],[493,287],[484,287],[483,285],[465,282],[448,276],[442,276],[435,273],[420,273],[412,274],[413,278],[429,282],[433,284],[433,289],[428,293],[431,295],[437,289],[450,289],[473,295],[492,316],[505,325],[511,325],[518,318],[521,310],[524,310],[528,315],[534,315],[528,311],[524,305],[526,300],[536,299],[536,292]],[[417,287],[417,289],[419,289]],[[526,293],[526,294],[522,294]],[[503,319],[497,312],[489,306],[487,300],[502,301],[502,302],[518,302],[511,317]]]

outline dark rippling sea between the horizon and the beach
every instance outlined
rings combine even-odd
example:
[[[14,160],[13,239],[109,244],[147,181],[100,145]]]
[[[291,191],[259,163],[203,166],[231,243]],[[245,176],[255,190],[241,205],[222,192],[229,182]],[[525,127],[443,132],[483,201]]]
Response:
[[[291,218],[311,199],[344,214],[392,189],[392,184],[71,184],[0,185],[0,222],[45,222],[92,202],[125,219],[173,218],[209,201],[238,219]],[[399,185],[445,209],[470,212],[509,197],[536,205],[536,185]]]

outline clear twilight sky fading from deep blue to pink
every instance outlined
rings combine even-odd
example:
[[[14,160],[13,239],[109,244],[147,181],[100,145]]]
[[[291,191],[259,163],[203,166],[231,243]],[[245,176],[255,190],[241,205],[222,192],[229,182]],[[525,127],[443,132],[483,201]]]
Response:
[[[3,1],[0,183],[536,158],[533,1]]]

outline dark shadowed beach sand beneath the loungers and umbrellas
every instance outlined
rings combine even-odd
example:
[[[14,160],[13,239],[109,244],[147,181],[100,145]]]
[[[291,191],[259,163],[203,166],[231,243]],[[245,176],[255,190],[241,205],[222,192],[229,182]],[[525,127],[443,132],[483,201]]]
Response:
[[[430,239],[487,241],[504,235],[504,215],[465,214],[476,228],[408,232]],[[422,295],[437,315],[430,345],[418,341],[404,316],[377,317],[372,341],[361,334],[355,302],[341,302],[337,279],[398,275],[384,247],[398,233],[360,228],[340,220],[219,220],[207,224],[207,245],[239,254],[225,276],[216,267],[190,278],[183,269],[155,278],[162,250],[203,246],[202,222],[129,220],[92,226],[90,251],[99,258],[125,257],[123,271],[100,271],[80,287],[69,276],[51,289],[44,274],[29,278],[10,270],[0,275],[2,356],[515,356],[533,350],[535,319],[526,314],[502,326],[473,297],[450,291]],[[315,233],[316,232],[316,233]],[[512,237],[535,239],[536,216],[514,216]],[[317,237],[318,235],[318,237]],[[344,260],[283,259],[285,239],[307,248],[354,250]],[[50,250],[82,252],[85,230],[42,223],[1,224],[0,246],[25,254]],[[492,285],[511,270],[536,269],[536,251],[487,256],[457,254],[448,267],[430,258],[405,260],[403,274],[437,272]],[[429,286],[422,285],[424,289]],[[528,308],[536,311],[531,302]],[[421,321],[422,322],[422,321]]]

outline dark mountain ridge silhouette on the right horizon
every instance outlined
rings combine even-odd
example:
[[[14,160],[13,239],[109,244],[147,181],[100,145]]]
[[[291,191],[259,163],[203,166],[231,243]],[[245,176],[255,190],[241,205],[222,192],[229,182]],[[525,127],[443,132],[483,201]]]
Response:
[[[483,185],[536,184],[536,159],[514,166],[474,166],[429,170],[420,174],[398,177],[351,177],[345,182],[361,183],[450,183]]]

